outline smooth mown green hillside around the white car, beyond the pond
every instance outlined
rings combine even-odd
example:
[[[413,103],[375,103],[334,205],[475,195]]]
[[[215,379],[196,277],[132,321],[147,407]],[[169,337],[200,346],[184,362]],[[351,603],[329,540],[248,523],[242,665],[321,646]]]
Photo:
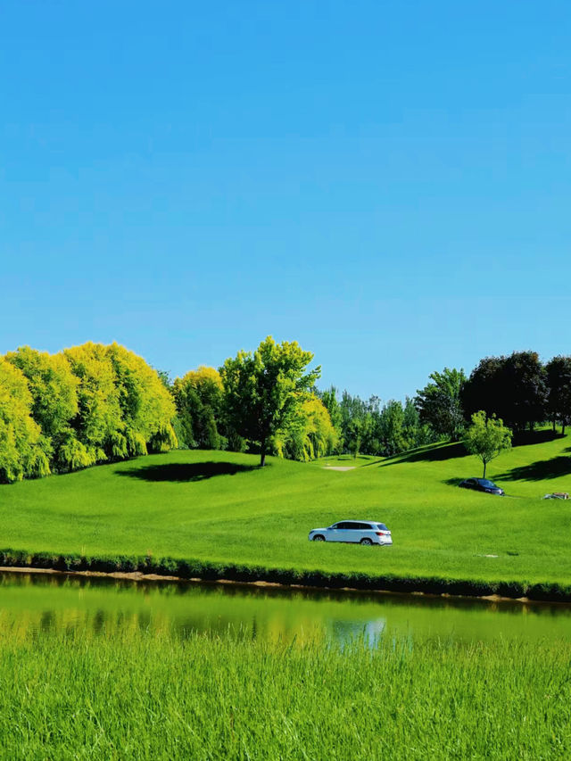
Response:
[[[501,498],[457,487],[481,475],[460,444],[356,462],[269,459],[263,469],[255,456],[174,451],[0,486],[0,546],[568,584],[571,501],[541,498],[571,492],[569,452],[564,437],[501,455],[489,468]],[[393,547],[307,541],[343,518],[384,521]]]

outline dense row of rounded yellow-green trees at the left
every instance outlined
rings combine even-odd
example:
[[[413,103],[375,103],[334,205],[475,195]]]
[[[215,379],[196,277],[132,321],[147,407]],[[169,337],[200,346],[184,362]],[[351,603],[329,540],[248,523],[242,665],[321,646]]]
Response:
[[[145,360],[112,343],[0,357],[0,481],[177,445],[175,405]]]

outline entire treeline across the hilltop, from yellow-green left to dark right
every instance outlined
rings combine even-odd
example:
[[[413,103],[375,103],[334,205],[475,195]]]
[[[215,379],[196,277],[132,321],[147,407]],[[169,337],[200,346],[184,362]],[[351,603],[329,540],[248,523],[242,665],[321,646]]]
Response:
[[[0,481],[46,476],[172,447],[310,460],[333,453],[391,456],[458,441],[473,413],[517,434],[571,419],[571,357],[487,357],[467,377],[434,372],[413,399],[363,401],[320,391],[313,355],[266,338],[219,368],[174,382],[117,343],[57,354],[23,347],[0,357]]]

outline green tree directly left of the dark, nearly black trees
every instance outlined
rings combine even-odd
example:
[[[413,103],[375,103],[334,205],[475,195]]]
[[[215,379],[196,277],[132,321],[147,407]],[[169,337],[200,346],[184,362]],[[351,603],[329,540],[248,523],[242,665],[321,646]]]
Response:
[[[442,373],[434,372],[429,377],[432,383],[417,392],[420,422],[431,426],[435,433],[457,442],[464,428],[460,401],[466,383],[464,370],[444,368]]]

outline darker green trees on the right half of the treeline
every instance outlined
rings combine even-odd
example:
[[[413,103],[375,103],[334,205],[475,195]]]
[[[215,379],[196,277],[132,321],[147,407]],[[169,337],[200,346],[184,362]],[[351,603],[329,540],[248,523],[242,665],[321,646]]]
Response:
[[[571,420],[571,356],[543,364],[537,352],[513,352],[480,360],[469,377],[463,369],[434,372],[414,399],[368,401],[335,388],[322,393],[343,451],[388,456],[433,441],[459,441],[472,415],[484,410],[501,418],[515,434],[533,431],[547,421],[561,426]]]

